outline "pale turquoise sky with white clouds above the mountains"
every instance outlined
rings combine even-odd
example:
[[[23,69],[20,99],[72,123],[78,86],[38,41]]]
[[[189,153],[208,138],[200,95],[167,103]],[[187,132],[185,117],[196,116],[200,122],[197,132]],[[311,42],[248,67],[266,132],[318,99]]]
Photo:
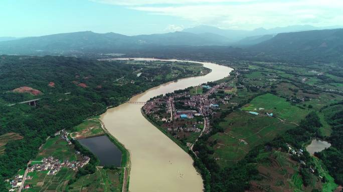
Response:
[[[0,0],[0,36],[343,25],[343,0]]]

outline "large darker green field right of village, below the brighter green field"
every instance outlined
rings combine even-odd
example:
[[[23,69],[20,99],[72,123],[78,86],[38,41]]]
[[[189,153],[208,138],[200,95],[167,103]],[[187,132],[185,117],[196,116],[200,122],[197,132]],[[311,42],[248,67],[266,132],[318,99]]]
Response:
[[[254,115],[245,111],[230,113],[219,125],[224,128],[224,133],[216,133],[210,140],[217,140],[214,157],[222,166],[242,159],[254,146],[296,126],[274,117]]]

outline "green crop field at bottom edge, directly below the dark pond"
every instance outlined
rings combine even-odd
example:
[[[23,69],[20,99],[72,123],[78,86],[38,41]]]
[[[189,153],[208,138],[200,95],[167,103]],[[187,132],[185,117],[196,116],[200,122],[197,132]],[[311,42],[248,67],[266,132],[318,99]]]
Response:
[[[123,169],[108,169],[97,167],[90,175],[81,176],[69,186],[68,191],[121,191]]]

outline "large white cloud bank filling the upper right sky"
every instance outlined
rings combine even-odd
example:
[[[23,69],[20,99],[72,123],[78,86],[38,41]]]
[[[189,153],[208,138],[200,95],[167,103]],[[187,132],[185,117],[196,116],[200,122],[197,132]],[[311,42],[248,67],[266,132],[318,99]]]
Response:
[[[96,0],[222,28],[343,24],[343,0]]]

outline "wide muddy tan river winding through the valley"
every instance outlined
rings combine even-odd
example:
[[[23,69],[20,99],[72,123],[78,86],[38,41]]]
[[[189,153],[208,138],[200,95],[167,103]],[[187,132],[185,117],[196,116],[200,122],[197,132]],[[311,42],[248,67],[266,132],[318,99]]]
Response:
[[[119,58],[127,59],[127,58]],[[184,61],[176,59],[133,58],[135,60]],[[197,62],[212,71],[203,76],[183,78],[150,88],[130,101],[147,101],[159,94],[215,81],[229,75],[230,67],[211,62]],[[141,114],[142,104],[123,103],[107,109],[101,120],[107,130],[130,151],[129,190],[202,191],[203,180],[193,166],[192,157],[165,136]]]

